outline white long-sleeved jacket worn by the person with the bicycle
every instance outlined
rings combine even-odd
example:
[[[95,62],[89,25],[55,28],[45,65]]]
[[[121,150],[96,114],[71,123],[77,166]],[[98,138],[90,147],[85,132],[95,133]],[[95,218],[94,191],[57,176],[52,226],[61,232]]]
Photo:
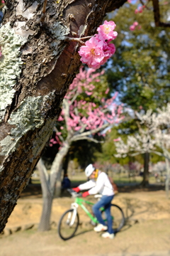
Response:
[[[113,186],[111,185],[111,182],[109,181],[107,174],[101,171],[98,172],[98,178],[96,181],[94,179],[91,179],[90,181],[87,181],[86,183],[79,185],[79,189],[90,189],[90,195],[100,193],[102,196],[113,196],[115,194],[113,191]]]

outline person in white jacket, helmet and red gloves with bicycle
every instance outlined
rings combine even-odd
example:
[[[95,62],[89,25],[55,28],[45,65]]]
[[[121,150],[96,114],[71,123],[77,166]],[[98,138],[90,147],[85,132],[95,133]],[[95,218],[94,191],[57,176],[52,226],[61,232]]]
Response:
[[[82,193],[83,197],[101,193],[101,200],[95,203],[93,206],[94,215],[98,220],[98,225],[94,228],[94,231],[101,232],[107,230],[107,232],[102,234],[102,237],[114,238],[111,217],[111,201],[113,200],[115,194],[113,191],[113,186],[109,181],[108,175],[104,172],[96,170],[93,164],[89,164],[89,166],[86,167],[85,174],[88,178],[90,178],[90,180],[79,185],[77,188],[73,188],[73,190],[78,193],[79,191],[89,189],[89,191]],[[105,208],[108,225],[106,225],[101,216],[101,210],[99,210],[101,207]]]

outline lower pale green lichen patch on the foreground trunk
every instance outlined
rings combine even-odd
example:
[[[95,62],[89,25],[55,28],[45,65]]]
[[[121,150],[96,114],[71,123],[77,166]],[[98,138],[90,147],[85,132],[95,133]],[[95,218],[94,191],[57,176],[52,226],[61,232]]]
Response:
[[[28,131],[42,127],[44,113],[47,112],[54,100],[54,92],[45,96],[27,97],[23,100],[18,110],[13,112],[8,120],[8,124],[15,125],[15,128],[12,128],[10,135],[0,142],[2,156],[8,156],[15,151],[16,144]]]

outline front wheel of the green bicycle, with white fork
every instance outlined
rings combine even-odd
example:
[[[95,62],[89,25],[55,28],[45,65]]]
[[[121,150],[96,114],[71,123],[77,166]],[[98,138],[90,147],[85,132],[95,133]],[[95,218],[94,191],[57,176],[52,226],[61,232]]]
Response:
[[[74,236],[79,226],[79,215],[74,209],[63,213],[58,225],[58,234],[62,240],[68,240]]]

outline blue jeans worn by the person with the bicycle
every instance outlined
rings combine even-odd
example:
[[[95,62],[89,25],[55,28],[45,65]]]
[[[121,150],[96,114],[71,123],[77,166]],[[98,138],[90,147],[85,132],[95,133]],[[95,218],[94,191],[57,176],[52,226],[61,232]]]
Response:
[[[101,217],[101,210],[99,210],[101,207],[105,208],[106,213],[106,220],[108,223],[108,233],[113,234],[113,228],[112,228],[112,216],[111,216],[111,201],[113,200],[114,196],[102,196],[101,200],[94,204],[93,206],[93,212],[96,216],[99,223],[106,225],[103,218]]]

